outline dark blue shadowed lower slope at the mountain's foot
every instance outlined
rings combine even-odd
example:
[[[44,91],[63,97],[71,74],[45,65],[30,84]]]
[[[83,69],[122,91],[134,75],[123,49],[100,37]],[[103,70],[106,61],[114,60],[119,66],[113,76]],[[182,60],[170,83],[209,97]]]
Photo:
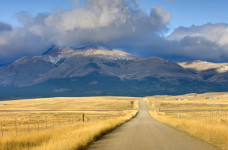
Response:
[[[118,77],[97,72],[73,78],[50,79],[25,87],[0,88],[0,99],[26,97],[74,97],[74,96],[147,96],[179,95],[219,91],[219,85],[176,77],[146,77],[141,80],[121,80]],[[221,89],[220,89],[221,90]]]

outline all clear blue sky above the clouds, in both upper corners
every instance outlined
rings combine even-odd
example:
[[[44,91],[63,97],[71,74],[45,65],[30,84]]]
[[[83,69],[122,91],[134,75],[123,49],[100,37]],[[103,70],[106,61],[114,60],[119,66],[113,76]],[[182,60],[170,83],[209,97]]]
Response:
[[[146,12],[152,7],[170,12],[171,31],[179,26],[228,23],[227,0],[140,0],[139,3]],[[15,14],[21,11],[35,16],[39,12],[71,8],[74,8],[71,0],[0,0],[0,20],[15,24]]]

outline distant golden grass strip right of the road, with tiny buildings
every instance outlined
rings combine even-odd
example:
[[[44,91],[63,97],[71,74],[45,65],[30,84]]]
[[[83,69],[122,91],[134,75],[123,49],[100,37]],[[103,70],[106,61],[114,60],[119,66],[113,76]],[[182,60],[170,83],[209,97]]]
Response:
[[[228,109],[228,93],[146,97],[151,109]],[[186,99],[186,100],[178,100]]]

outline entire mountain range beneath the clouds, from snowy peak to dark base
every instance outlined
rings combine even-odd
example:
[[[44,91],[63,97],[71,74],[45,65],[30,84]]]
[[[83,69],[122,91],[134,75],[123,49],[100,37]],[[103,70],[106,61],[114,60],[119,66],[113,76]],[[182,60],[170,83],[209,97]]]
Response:
[[[0,99],[176,95],[227,91],[227,83],[228,63],[176,63],[99,46],[52,46],[0,67]]]

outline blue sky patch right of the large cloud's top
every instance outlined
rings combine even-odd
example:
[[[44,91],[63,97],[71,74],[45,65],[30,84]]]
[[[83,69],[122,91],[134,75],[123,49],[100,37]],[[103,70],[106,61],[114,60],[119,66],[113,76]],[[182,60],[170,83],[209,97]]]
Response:
[[[228,23],[227,0],[142,0],[149,11],[151,6],[161,6],[171,13],[170,29],[179,26]]]

